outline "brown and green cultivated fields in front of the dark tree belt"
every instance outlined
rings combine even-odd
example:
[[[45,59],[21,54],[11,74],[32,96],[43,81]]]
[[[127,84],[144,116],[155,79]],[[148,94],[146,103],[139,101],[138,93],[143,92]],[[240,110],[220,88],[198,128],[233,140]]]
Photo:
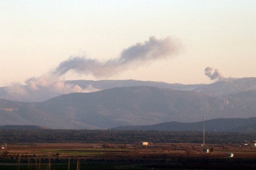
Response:
[[[13,143],[0,158],[0,169],[256,169],[256,147],[228,144]]]

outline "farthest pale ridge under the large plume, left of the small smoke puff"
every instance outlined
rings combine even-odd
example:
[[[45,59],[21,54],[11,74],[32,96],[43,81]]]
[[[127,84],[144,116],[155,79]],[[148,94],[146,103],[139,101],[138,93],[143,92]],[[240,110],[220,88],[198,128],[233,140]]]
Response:
[[[94,92],[115,87],[152,86],[178,90],[193,90],[203,84],[183,85],[168,84],[164,82],[138,81],[138,80],[73,80],[53,82],[48,86],[31,88],[25,86],[0,87],[0,98],[22,102],[42,102],[72,92]]]

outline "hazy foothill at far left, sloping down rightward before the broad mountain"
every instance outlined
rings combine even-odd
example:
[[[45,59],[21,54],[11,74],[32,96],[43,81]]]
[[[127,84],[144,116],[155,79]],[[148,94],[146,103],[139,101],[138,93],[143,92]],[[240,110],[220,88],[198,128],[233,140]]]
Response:
[[[42,111],[36,108],[38,103],[23,103],[0,99],[0,125],[38,125],[54,129],[97,129],[77,122],[70,117]]]

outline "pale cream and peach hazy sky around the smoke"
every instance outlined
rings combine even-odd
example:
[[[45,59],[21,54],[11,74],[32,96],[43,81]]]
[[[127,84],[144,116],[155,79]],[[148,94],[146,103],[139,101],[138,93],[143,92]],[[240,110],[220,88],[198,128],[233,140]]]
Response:
[[[210,83],[256,77],[256,1],[0,1],[0,86],[25,83],[70,56],[112,61],[150,37],[170,37],[178,54],[107,78],[68,71],[62,80],[136,79]]]

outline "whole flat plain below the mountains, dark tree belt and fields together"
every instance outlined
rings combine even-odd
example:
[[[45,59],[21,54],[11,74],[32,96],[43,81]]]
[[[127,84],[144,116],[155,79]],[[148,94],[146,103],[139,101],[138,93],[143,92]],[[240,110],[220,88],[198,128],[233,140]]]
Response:
[[[254,133],[1,130],[0,169],[255,169]],[[148,146],[142,146],[146,140]],[[209,153],[203,149],[209,149]],[[234,154],[233,158],[228,153]]]

